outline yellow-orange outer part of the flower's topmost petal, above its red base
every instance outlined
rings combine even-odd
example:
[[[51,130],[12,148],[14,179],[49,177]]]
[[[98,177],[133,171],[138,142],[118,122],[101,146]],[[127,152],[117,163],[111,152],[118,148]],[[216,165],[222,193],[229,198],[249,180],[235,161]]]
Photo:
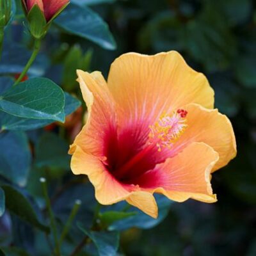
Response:
[[[206,77],[190,68],[175,51],[120,56],[111,65],[108,86],[126,124],[147,119],[154,123],[161,113],[193,102],[206,108],[214,104],[214,92]]]

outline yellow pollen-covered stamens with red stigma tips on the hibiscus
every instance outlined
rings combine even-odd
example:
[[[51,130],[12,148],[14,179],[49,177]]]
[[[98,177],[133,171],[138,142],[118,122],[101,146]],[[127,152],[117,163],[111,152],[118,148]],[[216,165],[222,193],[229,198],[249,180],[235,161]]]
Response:
[[[154,125],[149,126],[149,143],[155,144],[158,151],[163,147],[172,147],[187,127],[187,115],[188,111],[184,109],[178,109],[171,115],[162,115]]]

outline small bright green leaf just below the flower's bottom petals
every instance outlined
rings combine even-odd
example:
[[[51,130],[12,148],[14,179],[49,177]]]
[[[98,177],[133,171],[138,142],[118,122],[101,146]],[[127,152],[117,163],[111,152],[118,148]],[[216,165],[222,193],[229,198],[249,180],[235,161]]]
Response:
[[[131,217],[138,214],[138,212],[118,212],[118,211],[107,211],[99,214],[100,223],[104,227],[108,227],[112,223],[118,220],[124,220],[125,218]]]

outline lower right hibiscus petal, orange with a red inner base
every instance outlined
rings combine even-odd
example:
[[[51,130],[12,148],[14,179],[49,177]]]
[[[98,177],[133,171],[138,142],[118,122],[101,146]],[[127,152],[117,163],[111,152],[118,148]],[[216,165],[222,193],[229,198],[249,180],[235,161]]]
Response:
[[[145,191],[163,193],[177,202],[188,198],[216,202],[210,180],[211,170],[218,159],[218,153],[205,143],[192,143],[177,156],[141,175],[136,184]]]

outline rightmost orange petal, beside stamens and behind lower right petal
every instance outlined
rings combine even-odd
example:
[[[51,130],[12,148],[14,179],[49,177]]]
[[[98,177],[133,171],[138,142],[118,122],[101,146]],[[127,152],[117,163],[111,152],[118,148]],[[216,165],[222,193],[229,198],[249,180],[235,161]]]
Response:
[[[230,120],[218,109],[205,109],[197,104],[185,108],[188,127],[175,143],[175,150],[187,147],[189,143],[204,142],[218,152],[220,159],[213,171],[225,166],[236,156],[236,138]]]

